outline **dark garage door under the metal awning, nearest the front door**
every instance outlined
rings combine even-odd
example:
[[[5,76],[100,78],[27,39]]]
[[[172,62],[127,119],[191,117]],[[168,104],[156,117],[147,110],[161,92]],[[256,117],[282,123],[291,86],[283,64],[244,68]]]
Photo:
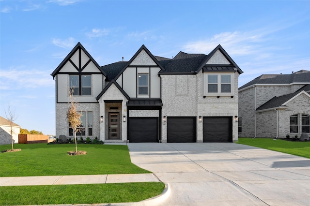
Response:
[[[158,118],[129,118],[129,142],[158,142]]]

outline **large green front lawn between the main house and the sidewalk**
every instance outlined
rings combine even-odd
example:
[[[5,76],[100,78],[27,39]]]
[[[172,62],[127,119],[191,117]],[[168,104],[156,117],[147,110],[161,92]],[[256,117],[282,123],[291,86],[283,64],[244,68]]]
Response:
[[[12,148],[1,145],[0,151]],[[78,144],[86,155],[70,156],[73,144],[15,144],[18,152],[0,153],[0,177],[150,173],[131,163],[125,145]]]

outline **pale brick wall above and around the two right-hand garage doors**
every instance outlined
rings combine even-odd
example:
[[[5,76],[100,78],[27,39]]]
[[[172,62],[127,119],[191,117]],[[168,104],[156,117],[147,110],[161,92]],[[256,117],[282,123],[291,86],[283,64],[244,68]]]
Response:
[[[203,73],[161,75],[162,116],[197,117],[197,142],[202,142],[202,122],[198,117],[238,116],[238,73],[234,74],[234,96],[203,98]],[[163,89],[164,88],[164,89]],[[238,122],[233,121],[233,141],[238,140]],[[167,142],[167,122],[162,122],[162,142]]]

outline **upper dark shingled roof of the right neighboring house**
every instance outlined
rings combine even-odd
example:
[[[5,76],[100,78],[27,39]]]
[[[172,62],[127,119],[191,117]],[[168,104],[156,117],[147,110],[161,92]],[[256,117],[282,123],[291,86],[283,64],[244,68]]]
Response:
[[[310,82],[310,71],[300,70],[292,74],[262,74],[239,89],[254,84],[291,84],[293,82]]]

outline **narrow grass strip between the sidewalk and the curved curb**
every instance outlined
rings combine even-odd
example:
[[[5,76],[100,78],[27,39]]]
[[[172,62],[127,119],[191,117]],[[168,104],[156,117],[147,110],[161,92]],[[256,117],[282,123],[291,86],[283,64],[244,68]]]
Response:
[[[0,205],[75,205],[139,202],[159,195],[162,182],[1,187]]]

